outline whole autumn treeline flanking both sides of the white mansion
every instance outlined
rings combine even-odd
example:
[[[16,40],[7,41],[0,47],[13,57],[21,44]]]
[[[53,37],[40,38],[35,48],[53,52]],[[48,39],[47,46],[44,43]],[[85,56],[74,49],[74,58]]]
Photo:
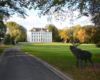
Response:
[[[6,43],[27,41],[26,29],[16,22],[7,22],[8,33],[6,35]],[[72,27],[65,27],[64,29],[57,29],[53,24],[45,26],[46,29],[52,32],[53,42],[80,42],[80,43],[94,43],[100,47],[100,27],[93,25],[76,25]]]

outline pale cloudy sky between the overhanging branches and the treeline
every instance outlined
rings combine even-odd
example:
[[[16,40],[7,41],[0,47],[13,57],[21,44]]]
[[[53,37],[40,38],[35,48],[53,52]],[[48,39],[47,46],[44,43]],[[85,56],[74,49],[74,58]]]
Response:
[[[52,20],[51,22],[47,21],[47,16],[42,16],[39,18],[37,15],[38,11],[27,11],[27,14],[29,15],[26,17],[26,19],[13,16],[12,18],[8,19],[7,22],[9,21],[14,21],[18,23],[19,25],[24,26],[27,30],[32,29],[33,27],[39,27],[39,28],[44,28],[47,24],[54,24],[58,29],[63,29],[64,27],[70,27],[74,26],[77,24],[80,24],[81,26],[84,25],[91,25],[92,23],[89,21],[88,17],[82,17],[80,19],[77,19],[74,21],[74,24],[70,24],[69,18],[66,19],[65,22],[56,22],[55,20]]]

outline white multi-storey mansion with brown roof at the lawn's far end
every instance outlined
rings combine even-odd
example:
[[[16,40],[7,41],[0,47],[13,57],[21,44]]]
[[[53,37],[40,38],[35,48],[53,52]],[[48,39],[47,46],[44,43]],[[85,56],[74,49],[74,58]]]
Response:
[[[32,28],[27,32],[28,42],[52,42],[52,32],[45,28]]]

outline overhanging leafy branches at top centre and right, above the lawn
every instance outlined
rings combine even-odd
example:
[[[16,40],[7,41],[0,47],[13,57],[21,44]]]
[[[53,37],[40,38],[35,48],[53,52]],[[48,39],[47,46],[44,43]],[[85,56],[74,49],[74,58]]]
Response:
[[[34,8],[41,10],[39,15],[55,14],[55,18],[57,20],[59,19],[63,20],[66,19],[66,16],[73,17],[72,13],[76,10],[79,10],[80,15],[78,17],[81,17],[83,15],[85,16],[91,15],[92,22],[95,23],[97,26],[100,26],[100,0],[42,0],[42,1],[34,0],[34,1],[36,3],[36,5],[34,5]],[[67,15],[64,13],[67,13]]]

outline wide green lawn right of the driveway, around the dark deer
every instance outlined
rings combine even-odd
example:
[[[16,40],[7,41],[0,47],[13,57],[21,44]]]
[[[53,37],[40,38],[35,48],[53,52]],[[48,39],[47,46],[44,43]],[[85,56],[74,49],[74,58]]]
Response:
[[[86,67],[80,70],[80,68],[76,68],[76,58],[69,49],[70,45],[64,43],[31,43],[20,49],[41,58],[75,80],[100,80],[100,48],[93,44],[78,46],[82,50],[90,51],[94,62],[94,67],[88,62]]]

